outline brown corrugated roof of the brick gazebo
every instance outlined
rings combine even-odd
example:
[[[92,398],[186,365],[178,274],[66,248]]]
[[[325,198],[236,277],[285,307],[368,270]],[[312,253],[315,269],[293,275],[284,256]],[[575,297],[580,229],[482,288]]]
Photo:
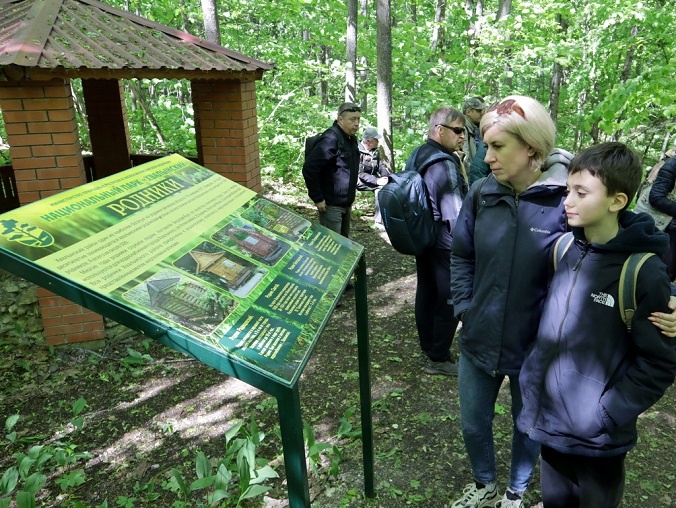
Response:
[[[272,67],[96,0],[0,0],[0,80],[241,80]]]

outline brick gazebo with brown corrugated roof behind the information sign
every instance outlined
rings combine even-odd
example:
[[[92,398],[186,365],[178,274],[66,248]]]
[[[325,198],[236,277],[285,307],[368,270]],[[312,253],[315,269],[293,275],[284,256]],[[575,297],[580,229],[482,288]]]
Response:
[[[190,81],[198,164],[260,190],[255,82],[272,68],[95,0],[0,0],[0,110],[21,205],[86,183],[71,80],[96,178],[132,167],[123,79]],[[47,344],[104,338],[100,315],[39,288]]]

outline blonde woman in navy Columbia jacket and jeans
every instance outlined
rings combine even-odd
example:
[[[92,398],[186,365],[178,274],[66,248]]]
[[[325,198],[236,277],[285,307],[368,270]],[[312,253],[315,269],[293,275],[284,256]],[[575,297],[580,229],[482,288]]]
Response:
[[[473,184],[453,234],[451,293],[460,333],[460,419],[474,483],[453,508],[499,500],[493,444],[498,391],[510,378],[512,417],[521,410],[518,374],[535,338],[551,277],[552,244],[566,229],[566,169],[543,171],[556,131],[536,100],[510,96],[481,120],[491,174]],[[539,445],[514,429],[508,489],[500,506],[519,507]]]

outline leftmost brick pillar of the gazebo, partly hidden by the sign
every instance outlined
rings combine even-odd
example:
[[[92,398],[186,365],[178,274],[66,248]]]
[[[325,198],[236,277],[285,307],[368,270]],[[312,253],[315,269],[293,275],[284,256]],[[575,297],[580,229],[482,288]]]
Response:
[[[0,109],[19,202],[86,183],[70,81],[0,82]],[[48,345],[104,338],[100,315],[40,288]]]

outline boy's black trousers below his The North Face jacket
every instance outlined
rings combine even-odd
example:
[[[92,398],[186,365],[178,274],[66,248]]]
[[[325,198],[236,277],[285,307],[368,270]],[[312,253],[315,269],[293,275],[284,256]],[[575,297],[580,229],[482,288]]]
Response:
[[[542,445],[544,508],[615,508],[624,494],[624,459],[568,455]]]

